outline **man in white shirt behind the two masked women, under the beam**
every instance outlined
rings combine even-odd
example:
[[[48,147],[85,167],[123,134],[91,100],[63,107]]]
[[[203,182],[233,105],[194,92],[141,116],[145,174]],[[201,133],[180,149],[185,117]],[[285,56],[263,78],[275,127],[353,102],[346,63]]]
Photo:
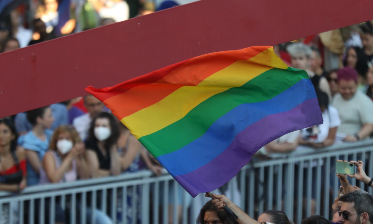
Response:
[[[88,113],[78,116],[72,122],[82,141],[87,138],[92,118],[104,109],[104,104],[92,95],[84,97],[84,105]]]

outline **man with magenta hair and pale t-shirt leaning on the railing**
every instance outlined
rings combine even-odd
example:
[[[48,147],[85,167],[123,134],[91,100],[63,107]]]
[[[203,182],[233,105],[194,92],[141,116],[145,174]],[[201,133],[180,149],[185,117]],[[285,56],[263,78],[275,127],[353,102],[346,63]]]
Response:
[[[357,91],[356,70],[348,67],[339,70],[338,86],[339,93],[333,100],[341,118],[338,135],[345,135],[344,141],[348,142],[366,139],[373,133],[373,102]]]

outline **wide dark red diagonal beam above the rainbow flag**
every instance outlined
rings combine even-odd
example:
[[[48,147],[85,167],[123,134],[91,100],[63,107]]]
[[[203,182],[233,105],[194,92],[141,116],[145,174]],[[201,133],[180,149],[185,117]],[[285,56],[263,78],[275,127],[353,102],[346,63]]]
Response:
[[[373,18],[371,0],[202,0],[0,55],[0,118],[205,53]]]

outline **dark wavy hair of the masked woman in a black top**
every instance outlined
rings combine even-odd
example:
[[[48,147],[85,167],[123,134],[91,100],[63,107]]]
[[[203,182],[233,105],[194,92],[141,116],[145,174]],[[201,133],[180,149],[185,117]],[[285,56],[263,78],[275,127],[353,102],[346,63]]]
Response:
[[[110,148],[117,143],[117,141],[119,139],[119,135],[120,135],[120,130],[119,130],[119,125],[118,125],[117,119],[111,113],[100,112],[100,113],[97,114],[97,116],[95,116],[92,119],[91,126],[90,126],[90,129],[88,131],[88,139],[98,141],[98,139],[94,135],[94,128],[95,128],[96,120],[99,119],[99,118],[109,119],[111,134],[110,134],[110,137],[108,139],[106,139],[106,141],[105,141],[105,149],[110,150]]]

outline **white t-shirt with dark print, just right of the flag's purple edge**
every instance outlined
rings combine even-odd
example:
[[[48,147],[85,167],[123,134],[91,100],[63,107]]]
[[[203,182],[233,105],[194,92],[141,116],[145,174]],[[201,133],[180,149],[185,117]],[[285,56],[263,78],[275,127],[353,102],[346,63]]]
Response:
[[[329,106],[327,110],[322,113],[323,124],[316,125],[309,128],[302,129],[302,138],[314,142],[323,142],[329,135],[329,128],[335,128],[341,125],[337,109]]]

